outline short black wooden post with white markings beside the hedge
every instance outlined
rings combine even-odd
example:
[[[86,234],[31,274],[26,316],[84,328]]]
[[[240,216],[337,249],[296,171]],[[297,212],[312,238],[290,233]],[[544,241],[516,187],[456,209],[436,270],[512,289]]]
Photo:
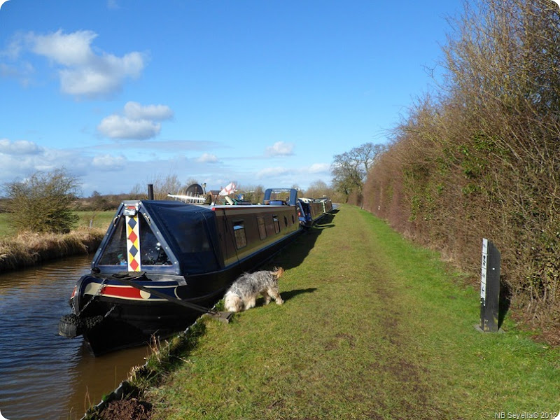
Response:
[[[482,239],[479,328],[484,332],[498,332],[499,328],[500,260],[498,248],[488,239]]]

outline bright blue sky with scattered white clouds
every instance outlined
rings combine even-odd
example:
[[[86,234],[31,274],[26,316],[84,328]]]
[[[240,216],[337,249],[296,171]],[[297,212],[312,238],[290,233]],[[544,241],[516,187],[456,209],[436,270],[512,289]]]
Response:
[[[0,0],[1,1],[1,0]],[[66,168],[83,195],[176,175],[330,184],[333,155],[434,85],[462,0],[10,0],[0,183]]]

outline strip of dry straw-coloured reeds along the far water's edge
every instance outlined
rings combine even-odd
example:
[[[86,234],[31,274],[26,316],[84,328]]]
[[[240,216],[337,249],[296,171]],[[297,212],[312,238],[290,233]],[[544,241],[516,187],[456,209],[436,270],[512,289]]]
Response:
[[[40,262],[83,255],[95,251],[105,231],[99,228],[78,228],[69,233],[22,232],[0,239],[0,273]]]

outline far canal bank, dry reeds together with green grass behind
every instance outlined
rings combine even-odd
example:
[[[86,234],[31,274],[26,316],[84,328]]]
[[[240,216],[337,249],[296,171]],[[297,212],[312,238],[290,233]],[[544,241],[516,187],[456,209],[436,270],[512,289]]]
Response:
[[[55,258],[92,253],[103,239],[113,211],[78,211],[78,226],[68,234],[17,234],[7,214],[0,214],[0,272]]]

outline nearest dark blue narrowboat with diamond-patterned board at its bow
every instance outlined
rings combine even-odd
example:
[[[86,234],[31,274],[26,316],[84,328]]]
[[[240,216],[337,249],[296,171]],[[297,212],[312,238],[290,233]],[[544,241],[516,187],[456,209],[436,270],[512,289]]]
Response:
[[[269,189],[265,199],[243,206],[124,201],[90,274],[73,289],[59,335],[83,335],[99,355],[186,329],[237,276],[302,232],[297,190]]]

